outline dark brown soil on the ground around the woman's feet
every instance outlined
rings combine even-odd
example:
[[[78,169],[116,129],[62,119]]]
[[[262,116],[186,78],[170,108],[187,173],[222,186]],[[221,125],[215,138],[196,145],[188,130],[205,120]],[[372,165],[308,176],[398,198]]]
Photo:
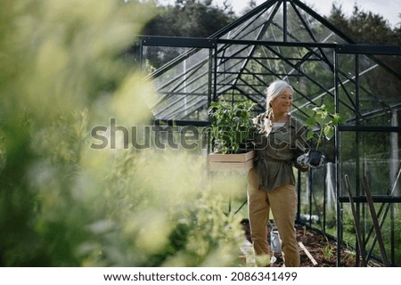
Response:
[[[246,239],[251,242],[248,220],[242,220],[241,224]],[[302,225],[296,225],[295,228],[297,231],[297,241],[299,242],[300,267],[337,267],[337,243],[334,240],[326,240],[322,233],[307,229]],[[268,232],[270,232],[270,225],[268,225]],[[267,240],[270,244],[270,236],[267,237]],[[306,249],[303,249],[302,245]],[[307,252],[310,254],[310,257],[307,255]],[[270,266],[282,267],[282,255],[275,253],[273,256],[276,260]],[[356,267],[355,252],[349,248],[341,247],[340,266]],[[381,265],[371,261],[369,266],[379,267]]]

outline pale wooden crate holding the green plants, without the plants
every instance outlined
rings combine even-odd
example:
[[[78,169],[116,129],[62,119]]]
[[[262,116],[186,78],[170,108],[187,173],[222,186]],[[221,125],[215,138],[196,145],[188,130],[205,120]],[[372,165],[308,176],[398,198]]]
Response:
[[[209,171],[248,171],[253,167],[255,151],[239,154],[209,154]]]

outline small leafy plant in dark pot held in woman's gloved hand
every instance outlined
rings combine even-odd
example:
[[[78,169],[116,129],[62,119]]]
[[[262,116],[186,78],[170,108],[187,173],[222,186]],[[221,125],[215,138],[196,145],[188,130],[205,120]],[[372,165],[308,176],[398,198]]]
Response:
[[[318,166],[322,159],[323,153],[319,151],[319,147],[323,142],[323,138],[330,140],[334,136],[336,126],[344,123],[344,118],[340,114],[331,112],[326,105],[308,106],[314,111],[313,115],[307,118],[305,125],[307,126],[307,141],[312,142],[315,148],[307,152],[309,164]],[[315,129],[318,129],[316,133]]]

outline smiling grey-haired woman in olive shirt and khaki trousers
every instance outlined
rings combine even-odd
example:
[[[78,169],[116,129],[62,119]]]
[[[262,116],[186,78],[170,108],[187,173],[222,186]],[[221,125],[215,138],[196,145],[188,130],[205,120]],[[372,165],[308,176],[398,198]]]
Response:
[[[282,240],[284,264],[299,266],[299,249],[294,228],[297,193],[292,166],[306,151],[305,128],[292,117],[293,89],[287,82],[274,81],[266,91],[266,113],[254,118],[256,126],[255,167],[248,174],[250,232],[258,265],[269,265],[266,224],[270,210]]]

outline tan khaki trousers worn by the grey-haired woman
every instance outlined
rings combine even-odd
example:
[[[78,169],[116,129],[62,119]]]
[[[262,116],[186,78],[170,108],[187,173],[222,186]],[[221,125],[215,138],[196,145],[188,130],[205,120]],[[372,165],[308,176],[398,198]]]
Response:
[[[297,211],[297,193],[293,185],[283,185],[273,191],[258,189],[258,173],[255,168],[248,174],[248,212],[250,217],[250,236],[258,260],[270,264],[270,251],[267,243],[267,221],[272,210],[274,222],[282,241],[282,255],[286,267],[299,267],[299,249],[294,218]],[[264,258],[263,258],[264,257]]]

